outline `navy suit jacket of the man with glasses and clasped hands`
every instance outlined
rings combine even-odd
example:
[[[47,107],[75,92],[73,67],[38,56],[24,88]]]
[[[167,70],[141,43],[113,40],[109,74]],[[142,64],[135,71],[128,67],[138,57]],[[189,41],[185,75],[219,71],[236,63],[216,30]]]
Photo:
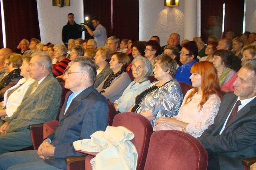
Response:
[[[72,94],[72,93],[70,93]],[[76,96],[64,115],[68,97],[62,107],[59,124],[48,136],[55,146],[54,157],[45,160],[47,164],[66,169],[65,158],[68,156],[84,156],[75,152],[73,142],[85,138],[98,130],[105,130],[108,123],[106,98],[93,86],[88,87]]]

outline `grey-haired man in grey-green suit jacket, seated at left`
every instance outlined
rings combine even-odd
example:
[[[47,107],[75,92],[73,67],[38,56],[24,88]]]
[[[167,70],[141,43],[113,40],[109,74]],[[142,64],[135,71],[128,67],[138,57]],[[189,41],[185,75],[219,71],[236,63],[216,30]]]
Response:
[[[27,71],[36,81],[28,87],[17,111],[11,117],[3,118],[0,154],[31,146],[28,126],[56,118],[61,87],[52,75],[52,59],[47,53],[36,52]]]

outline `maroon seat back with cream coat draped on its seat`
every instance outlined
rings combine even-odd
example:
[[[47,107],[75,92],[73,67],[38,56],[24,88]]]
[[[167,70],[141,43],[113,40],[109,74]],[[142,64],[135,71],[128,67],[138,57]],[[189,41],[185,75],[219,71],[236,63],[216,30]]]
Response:
[[[137,170],[142,170],[146,162],[148,145],[153,128],[148,119],[138,113],[118,113],[114,117],[113,126],[123,126],[134,133],[132,143],[138,152]]]

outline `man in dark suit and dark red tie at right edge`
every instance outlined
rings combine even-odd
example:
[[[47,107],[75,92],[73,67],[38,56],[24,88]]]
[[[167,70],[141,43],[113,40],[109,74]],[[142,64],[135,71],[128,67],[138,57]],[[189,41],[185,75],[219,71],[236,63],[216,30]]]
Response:
[[[256,156],[256,59],[243,61],[234,92],[222,99],[214,124],[198,140],[208,151],[208,169],[241,170]]]

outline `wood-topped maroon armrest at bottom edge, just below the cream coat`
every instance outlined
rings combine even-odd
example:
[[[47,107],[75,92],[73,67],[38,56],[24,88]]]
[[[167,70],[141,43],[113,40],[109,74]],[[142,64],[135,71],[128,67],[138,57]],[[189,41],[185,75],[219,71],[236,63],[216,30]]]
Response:
[[[84,169],[85,156],[70,156],[65,159],[68,170]]]

